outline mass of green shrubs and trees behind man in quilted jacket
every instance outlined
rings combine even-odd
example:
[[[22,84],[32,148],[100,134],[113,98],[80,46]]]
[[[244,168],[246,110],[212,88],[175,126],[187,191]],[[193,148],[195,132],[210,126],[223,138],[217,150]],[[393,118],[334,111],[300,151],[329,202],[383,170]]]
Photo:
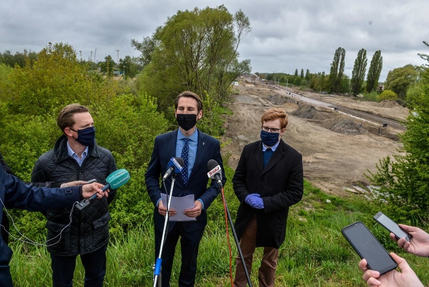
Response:
[[[115,233],[152,213],[153,204],[141,196],[146,192],[144,174],[154,138],[166,132],[168,125],[157,111],[155,98],[124,93],[118,81],[96,75],[76,59],[73,47],[61,43],[40,51],[32,66],[0,65],[0,151],[20,178],[30,180],[36,159],[61,135],[56,126],[59,110],[72,102],[89,106],[98,144],[111,150],[117,165],[131,173],[131,180],[110,205],[111,232]],[[12,212],[20,218],[18,229],[42,241],[45,218],[40,213]]]

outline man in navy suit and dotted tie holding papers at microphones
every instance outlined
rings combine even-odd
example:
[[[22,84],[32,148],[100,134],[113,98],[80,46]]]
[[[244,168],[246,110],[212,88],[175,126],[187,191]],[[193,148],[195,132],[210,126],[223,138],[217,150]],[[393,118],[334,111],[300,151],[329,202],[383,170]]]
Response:
[[[212,180],[207,188],[207,162],[210,159],[218,161],[222,168],[223,183],[226,181],[219,141],[196,128],[197,121],[202,118],[202,101],[199,96],[193,92],[183,92],[176,97],[175,108],[179,129],[156,137],[145,175],[147,191],[155,205],[155,257],[159,255],[164,216],[167,213],[167,208],[161,201],[161,193],[165,191],[161,191],[160,176],[165,174],[167,164],[172,157],[181,157],[184,160],[184,168],[174,183],[173,196],[194,195],[194,208],[185,210],[184,214],[196,220],[169,222],[162,253],[163,287],[170,286],[174,251],[179,236],[182,255],[179,287],[193,286],[195,283],[198,246],[207,224],[206,210],[219,194],[215,180]],[[171,177],[165,183],[169,193]],[[169,216],[175,214],[176,211],[170,208]]]

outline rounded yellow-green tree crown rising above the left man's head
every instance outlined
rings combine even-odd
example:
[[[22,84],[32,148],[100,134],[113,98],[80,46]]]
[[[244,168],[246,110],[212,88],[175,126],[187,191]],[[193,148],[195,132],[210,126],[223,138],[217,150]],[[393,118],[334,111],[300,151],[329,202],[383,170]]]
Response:
[[[30,62],[27,57],[26,63]],[[99,83],[93,81],[87,68],[77,61],[73,47],[56,43],[43,48],[32,65],[15,67],[10,93],[4,97],[12,113],[56,114],[71,102],[90,104],[94,100],[95,85]]]

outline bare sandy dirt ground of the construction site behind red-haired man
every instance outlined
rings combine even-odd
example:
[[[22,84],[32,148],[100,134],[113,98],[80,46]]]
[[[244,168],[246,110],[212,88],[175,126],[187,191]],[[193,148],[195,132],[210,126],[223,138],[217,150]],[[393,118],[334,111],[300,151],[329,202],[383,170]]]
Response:
[[[228,104],[233,114],[226,116],[223,141],[230,139],[230,143],[222,150],[223,154],[231,155],[228,164],[232,168],[237,166],[244,145],[260,139],[261,114],[272,106],[282,106],[289,113],[282,139],[303,155],[304,177],[331,194],[345,196],[348,193],[344,188],[370,184],[364,175],[367,169],[375,171],[379,159],[398,153],[401,147],[397,137],[400,131],[392,128],[381,129],[379,135],[378,125],[361,123],[333,109],[298,105],[295,98],[263,84],[240,83],[238,89],[239,94],[233,95],[232,103]],[[346,97],[338,101],[380,115],[395,114],[399,119],[408,113],[395,104],[394,108],[386,108],[386,103],[357,102]]]

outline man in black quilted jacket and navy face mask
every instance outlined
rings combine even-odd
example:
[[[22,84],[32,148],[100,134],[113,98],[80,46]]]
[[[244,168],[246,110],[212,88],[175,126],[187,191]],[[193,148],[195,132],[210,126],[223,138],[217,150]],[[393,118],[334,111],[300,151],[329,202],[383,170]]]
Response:
[[[32,182],[89,181],[106,184],[106,178],[115,171],[116,163],[111,152],[95,141],[94,121],[86,106],[69,104],[59,113],[57,125],[63,132],[55,146],[42,154],[36,161],[31,176]],[[72,286],[76,257],[81,256],[85,268],[85,286],[102,286],[106,274],[106,248],[109,241],[108,205],[115,197],[111,190],[109,197],[93,200],[82,210],[75,209],[72,224],[69,222],[69,208],[48,210],[44,215],[47,222],[47,249],[51,256],[52,285]],[[59,238],[59,239],[58,239]]]

